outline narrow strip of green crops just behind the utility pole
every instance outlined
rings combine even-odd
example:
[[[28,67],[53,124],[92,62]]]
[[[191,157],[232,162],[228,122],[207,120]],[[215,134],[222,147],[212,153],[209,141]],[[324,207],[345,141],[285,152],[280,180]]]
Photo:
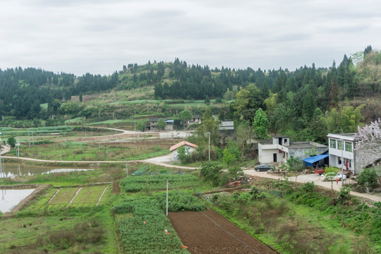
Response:
[[[126,192],[142,191],[148,186],[152,191],[164,190],[167,187],[167,179],[171,188],[189,188],[200,186],[197,176],[193,175],[155,175],[155,176],[133,176],[123,179],[121,188]]]

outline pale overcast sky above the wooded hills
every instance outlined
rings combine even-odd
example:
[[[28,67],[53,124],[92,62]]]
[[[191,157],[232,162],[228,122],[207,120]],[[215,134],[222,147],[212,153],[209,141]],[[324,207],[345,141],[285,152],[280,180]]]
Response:
[[[111,74],[123,64],[332,66],[381,49],[378,0],[0,0],[0,68]]]

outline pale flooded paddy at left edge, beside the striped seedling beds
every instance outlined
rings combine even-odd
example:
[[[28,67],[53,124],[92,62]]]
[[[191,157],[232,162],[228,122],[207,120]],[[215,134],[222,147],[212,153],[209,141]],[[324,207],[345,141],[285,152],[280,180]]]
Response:
[[[9,212],[35,189],[1,189],[0,212]]]

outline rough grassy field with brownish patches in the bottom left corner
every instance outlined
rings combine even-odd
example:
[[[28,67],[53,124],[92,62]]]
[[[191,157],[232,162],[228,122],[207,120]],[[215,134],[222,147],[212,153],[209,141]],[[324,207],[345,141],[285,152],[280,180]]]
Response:
[[[117,253],[109,208],[51,210],[1,220],[1,253]]]

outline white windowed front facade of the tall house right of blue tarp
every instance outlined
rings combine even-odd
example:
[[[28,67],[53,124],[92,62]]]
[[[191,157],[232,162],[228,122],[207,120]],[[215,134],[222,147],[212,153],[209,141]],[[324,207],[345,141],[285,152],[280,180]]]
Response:
[[[356,163],[354,133],[327,135],[329,141],[329,166],[339,167],[344,171],[352,171],[353,174],[361,173],[361,165]]]

